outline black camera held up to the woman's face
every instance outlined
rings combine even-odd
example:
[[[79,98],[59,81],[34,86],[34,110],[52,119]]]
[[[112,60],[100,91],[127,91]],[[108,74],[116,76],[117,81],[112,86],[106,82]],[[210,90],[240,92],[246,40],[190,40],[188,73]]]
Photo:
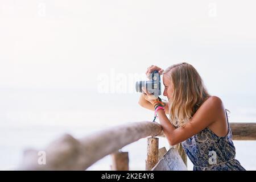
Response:
[[[148,77],[148,81],[137,81],[136,82],[136,92],[144,93],[142,90],[142,86],[146,88],[148,93],[153,94],[155,97],[158,97],[161,95],[161,78],[159,75],[159,72],[157,70],[154,70],[152,73],[150,73],[150,76]]]

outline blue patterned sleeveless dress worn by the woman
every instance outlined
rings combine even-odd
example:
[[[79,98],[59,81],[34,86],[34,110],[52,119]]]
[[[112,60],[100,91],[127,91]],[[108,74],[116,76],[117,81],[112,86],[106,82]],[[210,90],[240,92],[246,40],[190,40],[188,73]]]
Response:
[[[226,114],[228,119],[228,115]],[[236,148],[232,141],[232,131],[228,123],[228,135],[218,137],[208,127],[181,143],[194,171],[244,171],[235,159]]]

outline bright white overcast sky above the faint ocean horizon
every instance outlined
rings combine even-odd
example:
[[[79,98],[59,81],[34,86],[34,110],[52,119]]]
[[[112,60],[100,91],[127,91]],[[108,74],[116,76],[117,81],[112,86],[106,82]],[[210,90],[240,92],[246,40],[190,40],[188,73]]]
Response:
[[[164,69],[181,61],[199,71],[211,94],[250,101],[256,93],[255,4],[1,0],[1,107],[12,110],[26,101],[20,101],[23,92],[44,90],[111,98],[98,93],[99,75],[142,75],[151,64]],[[135,81],[127,87],[134,89]],[[123,97],[135,102],[138,94]]]

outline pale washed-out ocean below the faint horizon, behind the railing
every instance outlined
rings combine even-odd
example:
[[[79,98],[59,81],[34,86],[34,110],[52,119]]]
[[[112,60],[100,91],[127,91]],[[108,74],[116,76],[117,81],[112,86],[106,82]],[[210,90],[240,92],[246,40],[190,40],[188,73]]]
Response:
[[[29,148],[43,150],[47,144],[64,133],[81,138],[127,122],[151,121],[153,114],[138,105],[138,95],[134,94],[127,95],[125,98],[121,94],[94,94],[93,102],[91,98],[83,97],[82,92],[74,91],[42,92],[44,97],[38,97],[40,95],[38,91],[33,93],[19,90],[16,94],[10,93],[9,105],[2,107],[2,111],[5,112],[1,112],[0,115],[2,121],[0,132],[1,170],[15,169],[23,158],[24,150]],[[46,98],[48,99],[46,100]],[[238,99],[236,106],[239,105],[239,107],[230,107],[234,101],[225,96],[221,98],[229,105],[227,107],[231,111],[229,122],[256,121],[253,109],[256,108],[254,101],[245,98]],[[24,102],[25,99],[27,102]],[[92,101],[90,106],[84,104],[88,100]],[[109,101],[112,103],[108,104]],[[120,104],[121,101],[122,104]],[[11,102],[13,102],[13,106]],[[23,107],[22,103],[24,103]],[[236,158],[242,166],[247,170],[255,170],[255,141],[234,141],[234,144],[237,151]],[[166,147],[168,150],[166,139],[159,139],[160,147]],[[147,151],[146,138],[131,143],[121,150],[129,152],[130,170],[144,170]],[[110,170],[111,163],[111,158],[108,155],[87,170]],[[188,159],[188,169],[192,170],[192,167],[192,163]]]

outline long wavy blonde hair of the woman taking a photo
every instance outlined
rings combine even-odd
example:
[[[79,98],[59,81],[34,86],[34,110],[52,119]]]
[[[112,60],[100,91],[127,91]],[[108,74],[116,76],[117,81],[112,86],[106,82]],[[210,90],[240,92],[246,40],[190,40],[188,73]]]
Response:
[[[210,95],[201,76],[191,64],[174,64],[163,75],[170,78],[174,87],[169,100],[170,121],[175,127],[184,126]]]

